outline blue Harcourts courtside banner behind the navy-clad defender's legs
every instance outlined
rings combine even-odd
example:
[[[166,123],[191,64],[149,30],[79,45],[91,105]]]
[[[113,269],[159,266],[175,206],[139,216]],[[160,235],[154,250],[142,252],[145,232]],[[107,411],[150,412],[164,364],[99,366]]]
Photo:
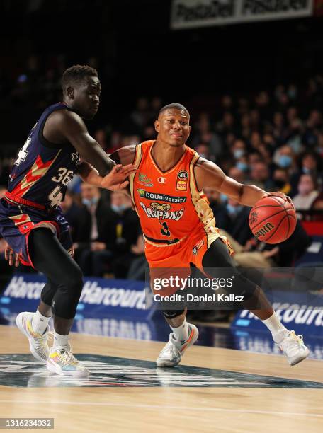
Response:
[[[14,275],[0,295],[1,313],[35,311],[45,282],[46,278],[41,275]],[[145,307],[145,282],[84,278],[77,314],[80,318],[104,316],[149,318],[153,311]]]

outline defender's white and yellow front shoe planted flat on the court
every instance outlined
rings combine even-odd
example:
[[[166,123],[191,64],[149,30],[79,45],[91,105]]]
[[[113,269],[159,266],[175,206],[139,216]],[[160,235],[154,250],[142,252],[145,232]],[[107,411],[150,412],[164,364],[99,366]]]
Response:
[[[52,373],[60,376],[89,376],[90,374],[89,370],[74,357],[70,346],[51,347],[46,366]]]

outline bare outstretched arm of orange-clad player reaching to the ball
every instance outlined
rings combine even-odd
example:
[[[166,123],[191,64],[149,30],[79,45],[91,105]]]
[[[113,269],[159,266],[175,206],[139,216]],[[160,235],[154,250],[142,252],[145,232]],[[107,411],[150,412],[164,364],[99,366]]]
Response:
[[[225,175],[215,163],[204,158],[199,158],[194,168],[198,190],[205,187],[213,187],[222,194],[237,200],[244,206],[254,206],[258,200],[268,195],[276,195],[288,200],[283,192],[266,192],[256,185],[244,185]]]

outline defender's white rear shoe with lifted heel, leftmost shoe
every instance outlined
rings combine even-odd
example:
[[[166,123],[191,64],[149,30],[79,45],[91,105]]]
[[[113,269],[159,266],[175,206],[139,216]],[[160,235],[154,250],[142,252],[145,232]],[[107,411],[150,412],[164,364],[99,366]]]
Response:
[[[16,317],[16,324],[21,332],[26,335],[29,340],[30,352],[33,356],[40,362],[47,362],[47,358],[50,354],[50,347],[48,346],[48,340],[51,339],[50,327],[47,325],[45,333],[38,334],[35,333],[32,326],[34,313],[24,313],[18,314]]]

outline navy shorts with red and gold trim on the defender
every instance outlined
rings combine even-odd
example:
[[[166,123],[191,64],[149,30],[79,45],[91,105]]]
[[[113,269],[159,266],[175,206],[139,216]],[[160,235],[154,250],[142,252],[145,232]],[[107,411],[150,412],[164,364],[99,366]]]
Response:
[[[62,209],[58,207],[52,212],[42,211],[21,204],[0,200],[0,236],[18,253],[21,263],[32,266],[28,253],[28,236],[36,227],[47,227],[52,230],[63,248],[73,255],[73,243],[69,233],[69,225]]]

